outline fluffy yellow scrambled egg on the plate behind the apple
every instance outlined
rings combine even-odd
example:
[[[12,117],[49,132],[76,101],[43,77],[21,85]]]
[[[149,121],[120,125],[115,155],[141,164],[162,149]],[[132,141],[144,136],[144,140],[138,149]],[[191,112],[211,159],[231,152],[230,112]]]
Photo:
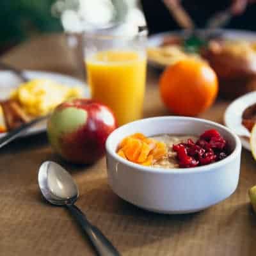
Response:
[[[28,115],[42,116],[61,102],[81,95],[80,87],[64,86],[48,79],[33,79],[13,90],[10,99],[17,100]]]

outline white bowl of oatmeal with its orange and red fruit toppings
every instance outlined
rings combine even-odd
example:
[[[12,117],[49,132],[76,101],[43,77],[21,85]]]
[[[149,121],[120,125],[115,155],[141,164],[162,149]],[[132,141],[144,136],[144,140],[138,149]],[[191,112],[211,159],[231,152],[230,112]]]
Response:
[[[162,116],[113,131],[106,157],[116,195],[148,211],[182,214],[234,193],[241,142],[227,127],[208,120]]]

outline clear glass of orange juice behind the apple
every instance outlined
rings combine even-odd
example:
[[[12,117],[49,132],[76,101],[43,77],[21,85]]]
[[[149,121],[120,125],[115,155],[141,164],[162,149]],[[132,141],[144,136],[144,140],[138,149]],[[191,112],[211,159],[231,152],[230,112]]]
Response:
[[[84,58],[92,99],[111,108],[118,125],[140,119],[146,79],[147,35],[84,35]]]

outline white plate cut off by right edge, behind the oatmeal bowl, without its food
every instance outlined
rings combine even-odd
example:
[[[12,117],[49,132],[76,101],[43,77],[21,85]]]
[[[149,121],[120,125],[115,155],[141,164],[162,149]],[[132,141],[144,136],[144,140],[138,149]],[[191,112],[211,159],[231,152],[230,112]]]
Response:
[[[245,95],[234,100],[226,109],[224,114],[225,125],[240,136],[244,148],[250,148],[250,132],[242,125],[242,115],[244,109],[256,103],[256,92],[246,93]],[[248,137],[248,139],[243,136]]]

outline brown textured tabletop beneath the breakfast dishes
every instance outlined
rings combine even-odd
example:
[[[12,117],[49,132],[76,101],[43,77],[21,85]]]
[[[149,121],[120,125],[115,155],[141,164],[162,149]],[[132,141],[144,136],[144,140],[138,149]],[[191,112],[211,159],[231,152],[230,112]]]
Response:
[[[51,70],[81,77],[76,54],[63,35],[46,35],[5,54],[19,68]],[[145,116],[168,115],[157,89],[156,70],[148,69]],[[218,101],[200,115],[223,122],[228,102]],[[256,215],[248,188],[256,184],[256,163],[243,150],[236,192],[195,214],[163,215],[143,211],[116,196],[108,186],[105,159],[92,166],[72,166],[55,156],[45,134],[14,141],[0,151],[0,255],[95,255],[68,212],[46,204],[37,184],[38,167],[54,160],[79,186],[77,205],[113,241],[122,255],[248,256],[256,252]]]

